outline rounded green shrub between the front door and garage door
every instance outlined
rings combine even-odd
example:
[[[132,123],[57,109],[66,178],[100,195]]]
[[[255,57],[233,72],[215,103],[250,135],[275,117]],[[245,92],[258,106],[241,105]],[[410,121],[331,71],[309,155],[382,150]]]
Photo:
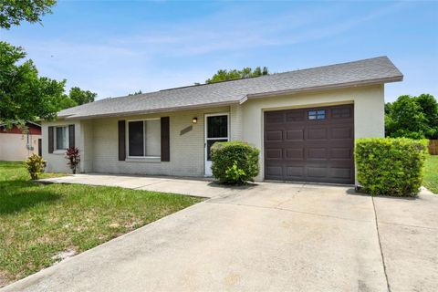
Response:
[[[222,183],[252,182],[259,172],[259,151],[245,142],[215,142],[211,151],[213,175]]]

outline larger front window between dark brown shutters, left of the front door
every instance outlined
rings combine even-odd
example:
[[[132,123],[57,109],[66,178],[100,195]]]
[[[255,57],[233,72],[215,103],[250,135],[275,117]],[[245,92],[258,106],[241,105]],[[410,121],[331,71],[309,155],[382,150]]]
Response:
[[[160,157],[162,153],[161,121],[129,121],[128,150],[128,155],[131,157]]]

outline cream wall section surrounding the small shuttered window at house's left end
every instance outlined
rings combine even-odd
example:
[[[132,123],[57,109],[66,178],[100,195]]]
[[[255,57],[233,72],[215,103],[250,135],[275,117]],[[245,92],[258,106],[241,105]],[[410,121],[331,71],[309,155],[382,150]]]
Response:
[[[84,145],[80,141],[81,135],[81,122],[79,120],[56,120],[56,121],[43,121],[41,125],[41,130],[43,134],[43,158],[47,161],[47,172],[71,172],[67,165],[67,159],[65,158],[66,151],[53,151],[53,153],[48,153],[48,127],[49,126],[68,126],[75,125],[75,143],[81,152],[81,156],[86,155],[84,153]],[[83,162],[79,165],[80,172],[83,169]]]

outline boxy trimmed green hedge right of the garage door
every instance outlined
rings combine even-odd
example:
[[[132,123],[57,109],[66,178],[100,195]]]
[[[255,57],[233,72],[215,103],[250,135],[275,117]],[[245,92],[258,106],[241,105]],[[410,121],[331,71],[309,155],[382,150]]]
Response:
[[[422,185],[427,141],[407,138],[356,140],[358,181],[371,195],[415,196]]]

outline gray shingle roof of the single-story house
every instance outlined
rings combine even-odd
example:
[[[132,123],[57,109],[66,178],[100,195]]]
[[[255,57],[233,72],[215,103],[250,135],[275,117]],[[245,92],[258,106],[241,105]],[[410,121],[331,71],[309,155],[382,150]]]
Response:
[[[214,84],[165,89],[141,95],[100,99],[62,110],[59,118],[81,119],[123,116],[137,113],[182,110],[221,104],[242,103],[256,96],[276,95],[353,85],[401,81],[403,75],[388,57],[318,68],[308,68],[273,75],[225,81]]]

